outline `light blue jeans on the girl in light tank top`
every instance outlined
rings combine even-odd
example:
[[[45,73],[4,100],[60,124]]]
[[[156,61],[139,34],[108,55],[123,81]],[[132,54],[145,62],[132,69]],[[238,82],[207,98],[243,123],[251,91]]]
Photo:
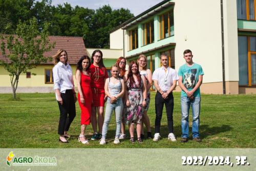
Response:
[[[110,98],[108,98],[108,100],[106,101],[105,118],[104,118],[104,123],[102,127],[102,138],[106,138],[106,133],[108,132],[109,123],[114,110],[116,115],[116,136],[115,137],[119,138],[119,135],[121,133],[121,115],[123,110],[123,101],[121,98],[119,98],[115,104],[110,103]]]

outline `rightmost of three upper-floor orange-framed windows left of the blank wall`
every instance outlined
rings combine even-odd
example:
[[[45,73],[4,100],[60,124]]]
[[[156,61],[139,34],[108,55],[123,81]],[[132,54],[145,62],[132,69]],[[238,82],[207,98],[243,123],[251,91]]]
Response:
[[[174,35],[174,12],[169,11],[159,16],[160,39]]]

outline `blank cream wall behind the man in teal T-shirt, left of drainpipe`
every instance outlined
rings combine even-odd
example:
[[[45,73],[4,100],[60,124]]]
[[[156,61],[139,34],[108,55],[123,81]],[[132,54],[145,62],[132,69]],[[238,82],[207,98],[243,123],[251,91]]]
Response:
[[[176,0],[174,8],[175,66],[190,49],[204,71],[203,82],[222,81],[221,5],[212,0]]]

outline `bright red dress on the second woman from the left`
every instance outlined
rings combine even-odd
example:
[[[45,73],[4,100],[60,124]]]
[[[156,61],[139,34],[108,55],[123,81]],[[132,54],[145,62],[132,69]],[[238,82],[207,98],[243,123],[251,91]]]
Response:
[[[80,102],[80,94],[78,93],[78,102],[81,108],[81,125],[89,125],[92,109],[92,90],[91,78],[81,72],[81,89],[84,98],[84,104]]]

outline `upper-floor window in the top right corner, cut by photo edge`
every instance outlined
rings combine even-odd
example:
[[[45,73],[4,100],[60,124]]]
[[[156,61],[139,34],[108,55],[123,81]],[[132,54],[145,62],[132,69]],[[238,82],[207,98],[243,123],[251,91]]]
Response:
[[[238,19],[256,20],[256,0],[237,0]]]

